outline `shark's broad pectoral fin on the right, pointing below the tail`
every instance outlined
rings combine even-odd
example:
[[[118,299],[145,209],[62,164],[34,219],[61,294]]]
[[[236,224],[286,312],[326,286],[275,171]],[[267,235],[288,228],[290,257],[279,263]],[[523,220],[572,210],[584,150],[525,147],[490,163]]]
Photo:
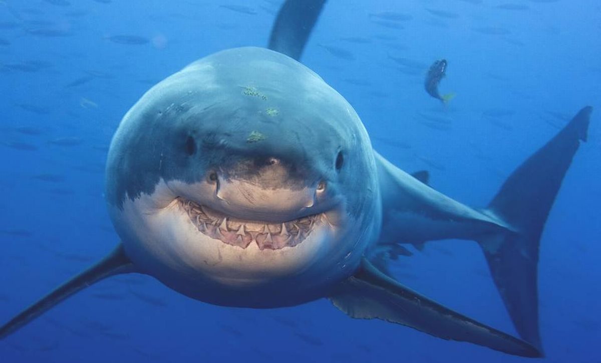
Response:
[[[534,346],[490,328],[410,290],[363,260],[355,275],[330,296],[332,303],[356,319],[380,319],[446,340],[468,341],[525,357],[540,357]]]

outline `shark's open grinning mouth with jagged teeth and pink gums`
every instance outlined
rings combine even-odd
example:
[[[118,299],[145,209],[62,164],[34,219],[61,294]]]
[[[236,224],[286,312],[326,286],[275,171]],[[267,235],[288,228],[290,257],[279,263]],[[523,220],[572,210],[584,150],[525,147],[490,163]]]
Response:
[[[307,239],[317,225],[327,221],[323,213],[281,223],[248,221],[225,215],[181,197],[177,200],[201,233],[241,248],[255,242],[261,251],[294,247]]]

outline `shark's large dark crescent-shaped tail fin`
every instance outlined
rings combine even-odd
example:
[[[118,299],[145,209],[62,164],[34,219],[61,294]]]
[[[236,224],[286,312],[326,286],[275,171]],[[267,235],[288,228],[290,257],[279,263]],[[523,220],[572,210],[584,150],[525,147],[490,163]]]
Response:
[[[551,141],[505,181],[487,212],[517,233],[480,239],[496,287],[523,340],[541,348],[538,332],[538,242],[561,181],[580,141],[587,141],[593,109],[576,114]]]

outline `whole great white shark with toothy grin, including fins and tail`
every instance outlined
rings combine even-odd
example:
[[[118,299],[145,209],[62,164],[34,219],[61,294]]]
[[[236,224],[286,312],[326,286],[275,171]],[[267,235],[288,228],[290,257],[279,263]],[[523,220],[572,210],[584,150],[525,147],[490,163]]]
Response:
[[[354,318],[542,356],[538,244],[591,108],[523,162],[489,206],[465,206],[378,154],[352,106],[296,60],[324,3],[286,1],[269,49],[209,55],[133,105],[106,163],[121,243],[1,326],[0,338],[97,281],[144,273],[210,304],[326,297]],[[388,275],[382,250],[441,239],[480,243],[521,339]]]

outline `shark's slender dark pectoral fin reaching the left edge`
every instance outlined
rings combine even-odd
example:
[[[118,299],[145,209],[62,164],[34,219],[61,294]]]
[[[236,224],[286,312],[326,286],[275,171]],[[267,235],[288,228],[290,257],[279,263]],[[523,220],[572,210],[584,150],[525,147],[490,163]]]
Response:
[[[99,263],[94,264],[87,270],[84,270],[84,272],[79,273],[79,275],[55,288],[55,290],[38,300],[38,302],[35,302],[35,304],[23,310],[9,322],[0,326],[0,339],[6,338],[17,331],[17,329],[31,322],[31,320],[50,310],[50,308],[55,307],[59,302],[95,282],[112,275],[129,272],[135,272],[135,269],[132,261],[126,256],[123,245],[120,243],[117,248],[100,260]]]

